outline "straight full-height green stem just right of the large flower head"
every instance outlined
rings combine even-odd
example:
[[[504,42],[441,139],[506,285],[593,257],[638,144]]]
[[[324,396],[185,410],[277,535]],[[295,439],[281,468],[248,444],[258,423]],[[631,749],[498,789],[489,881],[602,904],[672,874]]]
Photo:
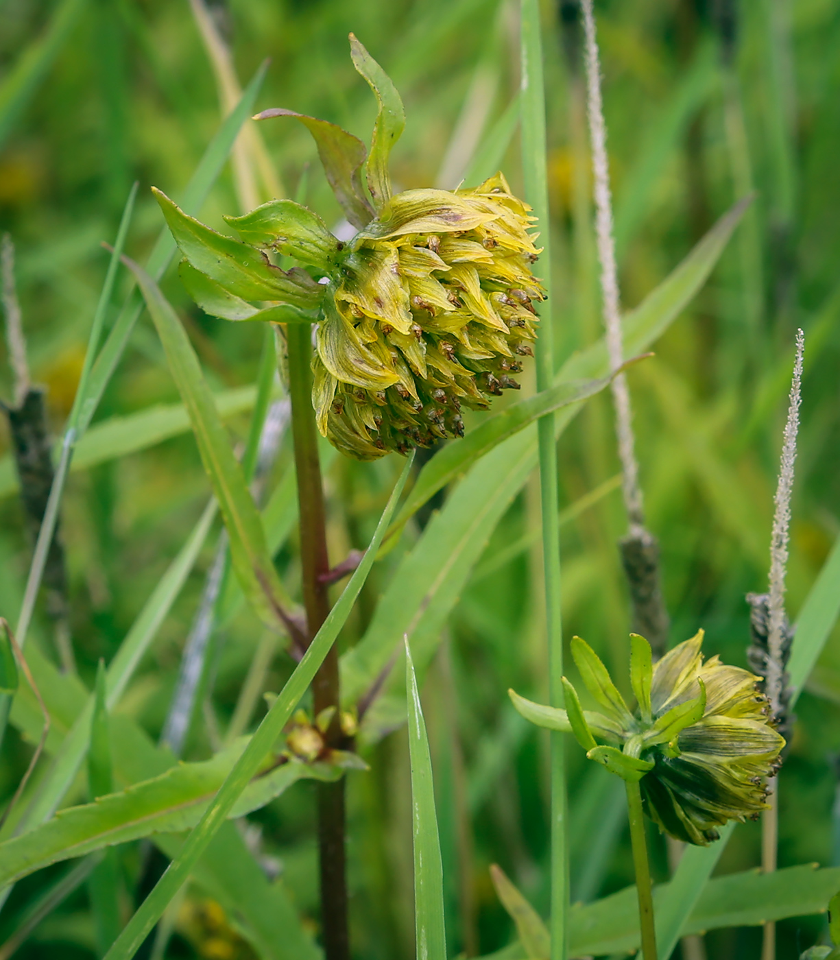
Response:
[[[545,88],[542,80],[542,42],[539,0],[521,0],[522,173],[525,199],[534,207],[542,245],[541,274],[546,297],[551,294],[550,221],[545,140]],[[536,348],[537,389],[554,381],[554,343],[551,300],[542,312]],[[554,415],[537,423],[540,451],[540,509],[542,565],[545,582],[545,618],[548,639],[548,684],[552,707],[564,706],[563,620],[561,614],[560,522],[558,517],[557,440]],[[568,851],[565,790],[565,744],[551,734],[551,960],[568,953]]]

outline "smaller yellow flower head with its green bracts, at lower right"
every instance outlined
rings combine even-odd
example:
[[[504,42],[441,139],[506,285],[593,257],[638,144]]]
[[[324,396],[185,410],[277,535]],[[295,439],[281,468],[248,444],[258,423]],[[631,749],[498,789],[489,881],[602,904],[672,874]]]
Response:
[[[631,711],[607,668],[574,637],[572,655],[603,713],[581,708],[564,679],[566,709],[540,707],[511,691],[528,720],[574,733],[589,759],[636,780],[645,813],[660,829],[705,846],[730,820],[766,809],[765,781],[775,776],[784,739],[770,717],[759,677],[720,659],[703,659],[703,631],[652,663],[650,644],[632,634]],[[595,737],[607,741],[598,745]]]

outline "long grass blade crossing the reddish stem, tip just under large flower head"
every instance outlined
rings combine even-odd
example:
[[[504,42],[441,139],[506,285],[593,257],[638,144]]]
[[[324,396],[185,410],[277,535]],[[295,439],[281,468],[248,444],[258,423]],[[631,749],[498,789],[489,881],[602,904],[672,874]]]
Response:
[[[259,769],[263,758],[271,750],[279,732],[289,721],[293,711],[300,703],[300,698],[311,684],[318,668],[324,661],[324,657],[347,621],[356,597],[371,572],[376,551],[382,542],[388,524],[391,522],[391,517],[394,515],[396,501],[405,486],[413,459],[413,457],[408,458],[385,511],[379,519],[371,544],[365,552],[362,562],[350,577],[348,586],[344,589],[338,603],[329,612],[324,621],[324,626],[312,640],[302,660],[295,668],[295,672],[284,685],[272,708],[252,735],[248,747],[236,762],[212,804],[204,813],[201,822],[187,837],[180,854],[170,863],[166,873],[158,880],[155,889],[143,901],[117,942],[108,950],[107,960],[129,960],[140,948],[140,945],[160,919],[169,901],[180,890],[199,857],[221,828],[249,780]]]

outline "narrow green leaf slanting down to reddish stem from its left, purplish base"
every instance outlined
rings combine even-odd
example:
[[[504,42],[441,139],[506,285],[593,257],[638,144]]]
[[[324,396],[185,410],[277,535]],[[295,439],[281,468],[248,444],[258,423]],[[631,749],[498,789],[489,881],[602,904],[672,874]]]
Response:
[[[253,609],[267,626],[285,632],[283,589],[265,542],[265,532],[242,468],[213,405],[195,351],[180,320],[156,282],[126,258],[137,279],[169,361],[184,406],[189,413],[204,469],[228,529],[230,558]]]

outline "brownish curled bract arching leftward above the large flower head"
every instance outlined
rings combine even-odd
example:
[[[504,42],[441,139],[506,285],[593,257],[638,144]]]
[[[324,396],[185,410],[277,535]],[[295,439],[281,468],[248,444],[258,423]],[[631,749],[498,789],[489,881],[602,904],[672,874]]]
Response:
[[[348,221],[357,229],[365,228],[373,219],[371,204],[362,187],[361,169],[367,151],[362,141],[326,120],[307,117],[294,110],[273,108],[263,110],[254,120],[271,117],[293,117],[312,134],[318,147],[318,156],[324,167],[326,180],[332,187],[336,200],[341,204]]]

